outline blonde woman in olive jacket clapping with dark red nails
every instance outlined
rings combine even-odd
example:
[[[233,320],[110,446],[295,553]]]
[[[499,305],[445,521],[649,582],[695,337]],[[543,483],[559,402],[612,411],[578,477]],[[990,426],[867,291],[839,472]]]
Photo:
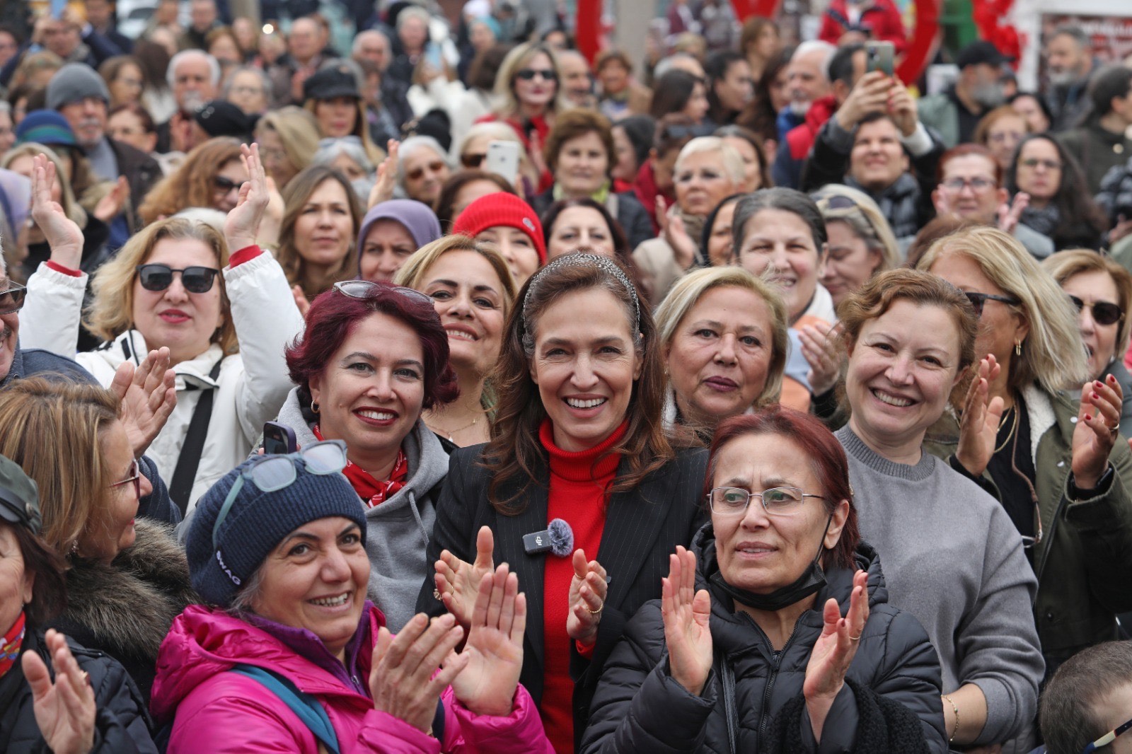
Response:
[[[1115,616],[1132,609],[1123,391],[1112,375],[1089,379],[1069,297],[1010,235],[966,230],[936,241],[918,266],[981,310],[980,379],[959,426],[934,429],[928,447],[995,495],[1032,543],[1034,614],[1053,672],[1086,646],[1116,639]]]

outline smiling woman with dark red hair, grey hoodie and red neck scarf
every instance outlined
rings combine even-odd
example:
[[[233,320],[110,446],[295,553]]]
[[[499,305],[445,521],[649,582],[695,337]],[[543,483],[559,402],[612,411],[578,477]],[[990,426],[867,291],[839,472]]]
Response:
[[[454,447],[422,418],[460,394],[448,334],[428,295],[344,281],[311,303],[286,365],[298,387],[276,421],[294,431],[300,448],[345,442],[344,473],[368,522],[369,599],[389,629],[400,631],[432,572],[426,548]]]

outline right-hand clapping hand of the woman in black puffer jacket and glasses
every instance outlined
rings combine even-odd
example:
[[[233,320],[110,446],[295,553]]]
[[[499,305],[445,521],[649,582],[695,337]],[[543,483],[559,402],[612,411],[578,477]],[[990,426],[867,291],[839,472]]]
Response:
[[[830,598],[825,601],[822,611],[825,626],[809,652],[801,693],[806,697],[806,711],[809,713],[814,738],[818,742],[822,740],[825,716],[829,714],[833,700],[844,685],[846,671],[857,654],[860,634],[865,631],[865,622],[868,620],[867,582],[868,575],[864,571],[858,571],[854,575],[849,612],[843,618],[835,599]]]

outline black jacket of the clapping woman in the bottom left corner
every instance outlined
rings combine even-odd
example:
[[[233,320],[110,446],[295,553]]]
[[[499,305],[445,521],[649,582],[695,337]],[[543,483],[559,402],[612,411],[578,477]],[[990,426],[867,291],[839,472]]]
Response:
[[[92,754],[144,754],[156,752],[149,737],[149,714],[145,700],[129,675],[113,658],[97,650],[85,649],[68,637],[71,654],[91,676],[94,703],[94,746]],[[43,633],[28,629],[24,637],[24,652],[35,652],[46,663],[52,679],[55,677],[51,658],[43,642]],[[43,754],[49,752],[40,726],[35,722],[32,687],[24,678],[19,662],[0,677],[0,752],[8,754]]]

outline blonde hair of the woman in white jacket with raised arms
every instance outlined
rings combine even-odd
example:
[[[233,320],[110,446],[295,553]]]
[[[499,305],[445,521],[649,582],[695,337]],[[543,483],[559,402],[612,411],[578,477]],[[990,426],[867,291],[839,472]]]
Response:
[[[91,281],[94,299],[86,311],[86,326],[92,333],[112,341],[128,329],[134,328],[134,281],[137,277],[137,266],[153,254],[158,241],[200,241],[216,255],[216,266],[223,269],[228,266],[228,243],[224,237],[204,222],[194,222],[181,217],[169,217],[145,228],[130,238],[126,246],[112,258],[98,267]],[[221,311],[223,324],[213,334],[212,342],[220,343],[224,353],[237,353],[240,344],[235,339],[235,326],[232,324],[231,308],[228,302],[228,291],[224,289],[224,275],[216,275],[220,285]],[[146,343],[149,348],[158,348],[161,343]]]

